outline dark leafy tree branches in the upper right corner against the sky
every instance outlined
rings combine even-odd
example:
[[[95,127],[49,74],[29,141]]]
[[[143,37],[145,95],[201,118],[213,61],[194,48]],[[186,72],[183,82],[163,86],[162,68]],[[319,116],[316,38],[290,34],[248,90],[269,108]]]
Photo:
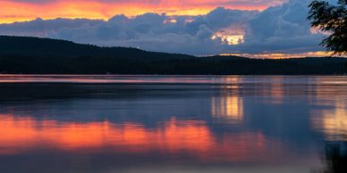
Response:
[[[309,4],[311,26],[331,33],[321,45],[334,54],[347,54],[347,0],[339,0],[336,5],[314,0]]]

